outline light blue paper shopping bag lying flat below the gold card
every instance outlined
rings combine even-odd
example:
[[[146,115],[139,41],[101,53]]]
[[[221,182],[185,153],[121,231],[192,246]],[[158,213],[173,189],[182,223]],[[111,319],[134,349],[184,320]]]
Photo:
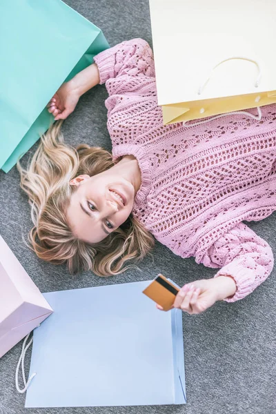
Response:
[[[159,311],[149,283],[44,294],[26,407],[186,403],[182,313]]]

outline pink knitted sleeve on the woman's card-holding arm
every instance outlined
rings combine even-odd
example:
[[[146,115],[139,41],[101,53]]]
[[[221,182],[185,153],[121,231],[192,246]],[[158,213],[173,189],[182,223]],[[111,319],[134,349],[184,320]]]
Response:
[[[224,300],[235,302],[266,280],[273,269],[274,259],[268,243],[244,223],[239,223],[208,248],[197,262],[209,267],[222,266],[215,277],[233,277],[237,290],[233,297]]]

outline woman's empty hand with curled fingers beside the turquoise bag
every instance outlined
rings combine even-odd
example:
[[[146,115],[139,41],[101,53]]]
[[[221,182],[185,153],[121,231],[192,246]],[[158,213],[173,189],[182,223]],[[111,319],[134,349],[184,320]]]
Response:
[[[79,97],[79,92],[72,83],[65,82],[48,103],[48,112],[54,115],[55,120],[66,119],[76,108]]]

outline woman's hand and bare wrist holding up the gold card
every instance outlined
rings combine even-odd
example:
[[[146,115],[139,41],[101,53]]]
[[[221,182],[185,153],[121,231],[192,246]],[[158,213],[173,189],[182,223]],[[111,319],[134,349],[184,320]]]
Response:
[[[182,309],[190,315],[201,313],[215,304],[217,300],[233,296],[236,288],[235,280],[228,276],[196,280],[184,285],[179,290],[172,308]],[[163,310],[159,305],[157,308],[160,311]]]

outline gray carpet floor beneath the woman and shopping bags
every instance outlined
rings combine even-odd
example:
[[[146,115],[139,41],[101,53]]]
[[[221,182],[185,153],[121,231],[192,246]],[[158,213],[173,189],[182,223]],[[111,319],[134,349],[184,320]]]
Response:
[[[69,6],[99,26],[110,46],[141,37],[152,46],[148,0],[66,0]],[[166,30],[166,28],[164,28]],[[106,129],[105,86],[84,95],[75,112],[63,124],[70,144],[81,142],[110,149]],[[34,146],[31,152],[37,148]],[[25,156],[24,161],[28,155]],[[22,242],[30,229],[30,210],[13,168],[0,172],[0,233],[42,292],[85,288],[152,279],[161,272],[177,284],[212,277],[214,270],[181,259],[157,243],[153,259],[140,269],[119,277],[99,278],[92,273],[71,276],[63,266],[41,262]],[[276,252],[276,214],[248,224]],[[29,413],[95,414],[273,414],[276,412],[275,295],[276,271],[246,299],[220,302],[202,315],[183,315],[186,363],[186,406],[139,406],[115,408],[28,409]],[[0,286],[1,288],[1,286]],[[25,396],[14,386],[14,372],[21,343],[0,359],[0,413],[26,413]],[[29,367],[30,355],[26,357]],[[55,373],[53,373],[55,375]],[[134,373],[135,375],[135,373]],[[108,384],[106,384],[108,386]]]

